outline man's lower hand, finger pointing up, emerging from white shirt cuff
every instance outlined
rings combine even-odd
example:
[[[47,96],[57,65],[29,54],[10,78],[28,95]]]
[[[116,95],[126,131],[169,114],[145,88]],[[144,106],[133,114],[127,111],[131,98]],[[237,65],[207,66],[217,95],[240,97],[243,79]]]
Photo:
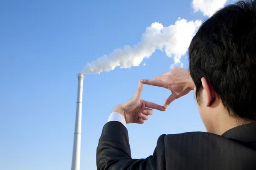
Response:
[[[141,100],[141,94],[143,91],[143,85],[139,82],[139,87],[133,98],[130,100],[117,105],[113,108],[112,112],[121,113],[125,117],[126,123],[140,123],[143,124],[145,120],[148,120],[148,115],[153,114],[152,109],[157,109],[159,111],[165,111],[163,106],[157,105],[155,103],[147,102]]]

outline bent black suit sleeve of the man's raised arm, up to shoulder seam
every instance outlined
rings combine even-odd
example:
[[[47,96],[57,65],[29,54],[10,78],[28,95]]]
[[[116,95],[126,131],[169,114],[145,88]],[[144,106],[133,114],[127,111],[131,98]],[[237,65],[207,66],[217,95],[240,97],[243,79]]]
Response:
[[[164,137],[159,137],[152,156],[132,159],[126,127],[117,121],[108,122],[97,147],[97,170],[165,170]]]

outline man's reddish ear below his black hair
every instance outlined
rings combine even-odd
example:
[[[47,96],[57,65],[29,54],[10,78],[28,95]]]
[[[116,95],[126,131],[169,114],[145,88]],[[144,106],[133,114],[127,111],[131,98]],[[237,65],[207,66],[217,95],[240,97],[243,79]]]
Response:
[[[201,82],[206,93],[206,106],[209,107],[215,101],[215,91],[206,78],[202,77]]]

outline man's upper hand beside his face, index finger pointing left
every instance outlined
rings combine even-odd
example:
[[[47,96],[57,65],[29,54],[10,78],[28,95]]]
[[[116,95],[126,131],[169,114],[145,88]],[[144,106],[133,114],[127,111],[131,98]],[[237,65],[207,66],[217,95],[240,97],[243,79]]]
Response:
[[[175,99],[185,96],[194,90],[195,84],[190,76],[189,70],[185,68],[173,68],[171,71],[156,76],[154,80],[141,79],[143,84],[167,88],[172,94],[166,99],[163,106],[167,108]]]

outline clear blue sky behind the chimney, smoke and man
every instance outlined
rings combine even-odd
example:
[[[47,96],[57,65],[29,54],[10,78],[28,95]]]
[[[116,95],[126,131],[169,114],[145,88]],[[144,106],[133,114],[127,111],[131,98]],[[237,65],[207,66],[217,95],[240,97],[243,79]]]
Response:
[[[193,12],[191,0],[1,1],[0,169],[70,170],[76,74],[87,62],[140,42],[151,23],[169,26],[178,17],[207,19]],[[188,68],[187,55],[181,62]],[[138,67],[85,75],[81,170],[96,169],[96,147],[112,108],[134,95],[140,79],[153,79],[172,63],[156,51]],[[144,85],[142,99],[163,105],[170,93]],[[192,92],[127,128],[133,158],[151,155],[163,133],[205,131]]]

